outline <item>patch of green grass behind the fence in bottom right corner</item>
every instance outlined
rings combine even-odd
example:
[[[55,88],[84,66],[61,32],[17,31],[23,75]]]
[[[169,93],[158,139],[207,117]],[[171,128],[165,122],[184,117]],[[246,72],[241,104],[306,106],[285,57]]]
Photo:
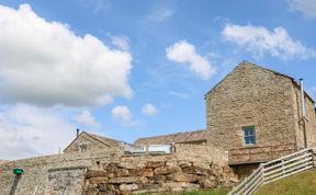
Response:
[[[303,171],[271,182],[259,188],[256,195],[316,195],[316,169]]]

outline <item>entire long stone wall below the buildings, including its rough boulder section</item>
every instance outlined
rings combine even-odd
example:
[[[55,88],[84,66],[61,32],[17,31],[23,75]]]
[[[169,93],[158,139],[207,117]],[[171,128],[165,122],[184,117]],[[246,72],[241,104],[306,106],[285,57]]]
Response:
[[[126,156],[121,149],[70,152],[0,164],[0,194],[129,193],[229,185],[237,179],[224,151],[208,145],[176,145],[170,154]],[[226,164],[226,165],[225,165]],[[12,170],[22,168],[16,180]],[[86,174],[86,170],[89,170]]]

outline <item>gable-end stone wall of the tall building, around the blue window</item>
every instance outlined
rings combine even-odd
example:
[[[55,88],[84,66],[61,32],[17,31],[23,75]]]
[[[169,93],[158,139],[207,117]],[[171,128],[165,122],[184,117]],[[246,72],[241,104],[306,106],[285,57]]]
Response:
[[[226,150],[296,145],[293,83],[287,77],[242,62],[205,100],[211,145]],[[255,146],[245,144],[247,126],[256,128]]]

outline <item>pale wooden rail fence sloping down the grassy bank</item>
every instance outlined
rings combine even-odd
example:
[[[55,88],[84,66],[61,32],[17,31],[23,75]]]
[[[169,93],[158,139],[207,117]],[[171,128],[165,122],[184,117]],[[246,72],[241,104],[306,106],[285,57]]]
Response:
[[[295,153],[261,163],[248,177],[235,186],[228,195],[251,195],[260,185],[290,176],[314,167],[313,149],[303,149]]]

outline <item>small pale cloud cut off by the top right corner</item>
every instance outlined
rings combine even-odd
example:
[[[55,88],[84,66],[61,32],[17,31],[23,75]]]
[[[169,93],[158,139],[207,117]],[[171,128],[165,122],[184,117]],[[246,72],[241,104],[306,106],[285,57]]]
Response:
[[[316,18],[316,0],[290,0],[290,11],[301,12],[306,18]]]

